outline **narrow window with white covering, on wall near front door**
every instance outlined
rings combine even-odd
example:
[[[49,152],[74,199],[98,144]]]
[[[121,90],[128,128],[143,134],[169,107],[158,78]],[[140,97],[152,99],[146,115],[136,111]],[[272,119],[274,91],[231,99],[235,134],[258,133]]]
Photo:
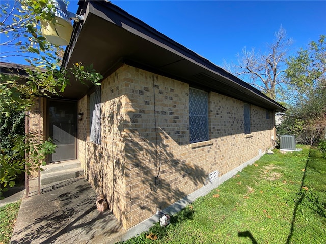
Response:
[[[90,95],[90,141],[101,144],[101,87]]]

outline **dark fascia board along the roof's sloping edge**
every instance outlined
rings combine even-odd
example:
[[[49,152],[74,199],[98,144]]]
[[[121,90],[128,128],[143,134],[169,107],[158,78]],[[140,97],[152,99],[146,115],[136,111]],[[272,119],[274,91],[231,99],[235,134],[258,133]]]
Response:
[[[286,108],[274,101],[273,99],[270,99],[265,94],[261,93],[258,89],[255,87],[249,85],[248,83],[242,81],[238,77],[234,76],[233,74],[225,71],[221,67],[213,64],[208,59],[198,55],[197,53],[193,52],[192,50],[186,48],[185,46],[175,42],[171,38],[167,37],[166,35],[158,32],[156,29],[152,28],[148,24],[144,23],[143,21],[139,20],[138,18],[135,18],[134,16],[128,14],[126,11],[121,9],[120,7],[109,3],[105,0],[100,1],[85,1],[80,0],[78,2],[79,8],[77,11],[77,14],[83,14],[84,18],[87,18],[87,15],[89,13],[92,13],[94,15],[97,15],[103,19],[105,19],[108,22],[111,22],[117,26],[120,26],[121,28],[126,29],[130,33],[133,33],[134,35],[137,35],[139,37],[144,38],[147,41],[150,41],[162,48],[165,48],[166,50],[175,53],[179,55],[180,57],[196,64],[204,69],[217,74],[221,77],[221,80],[224,80],[223,82],[230,83],[233,87],[241,87],[242,89],[248,90],[249,93],[255,94],[256,96],[259,96],[263,100],[273,104],[274,106],[278,107],[280,110],[286,111]],[[86,4],[86,6],[85,6]],[[76,43],[78,39],[78,32],[80,31],[80,23],[75,24],[74,32],[73,32],[73,38],[72,43],[67,47],[63,65],[66,66],[69,61],[69,57],[71,55],[71,52],[73,51],[74,43]],[[219,81],[221,81],[219,80]]]

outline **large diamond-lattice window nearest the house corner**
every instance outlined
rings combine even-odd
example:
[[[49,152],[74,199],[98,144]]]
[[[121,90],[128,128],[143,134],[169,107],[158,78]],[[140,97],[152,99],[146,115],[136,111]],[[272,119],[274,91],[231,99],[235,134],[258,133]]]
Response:
[[[208,93],[189,89],[190,142],[209,140],[208,136]]]

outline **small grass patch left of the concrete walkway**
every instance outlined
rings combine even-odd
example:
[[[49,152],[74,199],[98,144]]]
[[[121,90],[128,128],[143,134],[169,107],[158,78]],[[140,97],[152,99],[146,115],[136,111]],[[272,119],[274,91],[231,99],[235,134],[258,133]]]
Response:
[[[0,207],[0,244],[10,242],[21,201]]]

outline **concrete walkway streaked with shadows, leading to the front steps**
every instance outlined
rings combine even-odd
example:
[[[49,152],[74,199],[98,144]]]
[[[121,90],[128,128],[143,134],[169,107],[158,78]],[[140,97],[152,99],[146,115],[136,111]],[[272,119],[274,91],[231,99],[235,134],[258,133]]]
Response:
[[[97,211],[97,194],[84,177],[41,189],[37,195],[37,179],[30,180],[11,244],[115,243],[126,233],[110,211]]]

